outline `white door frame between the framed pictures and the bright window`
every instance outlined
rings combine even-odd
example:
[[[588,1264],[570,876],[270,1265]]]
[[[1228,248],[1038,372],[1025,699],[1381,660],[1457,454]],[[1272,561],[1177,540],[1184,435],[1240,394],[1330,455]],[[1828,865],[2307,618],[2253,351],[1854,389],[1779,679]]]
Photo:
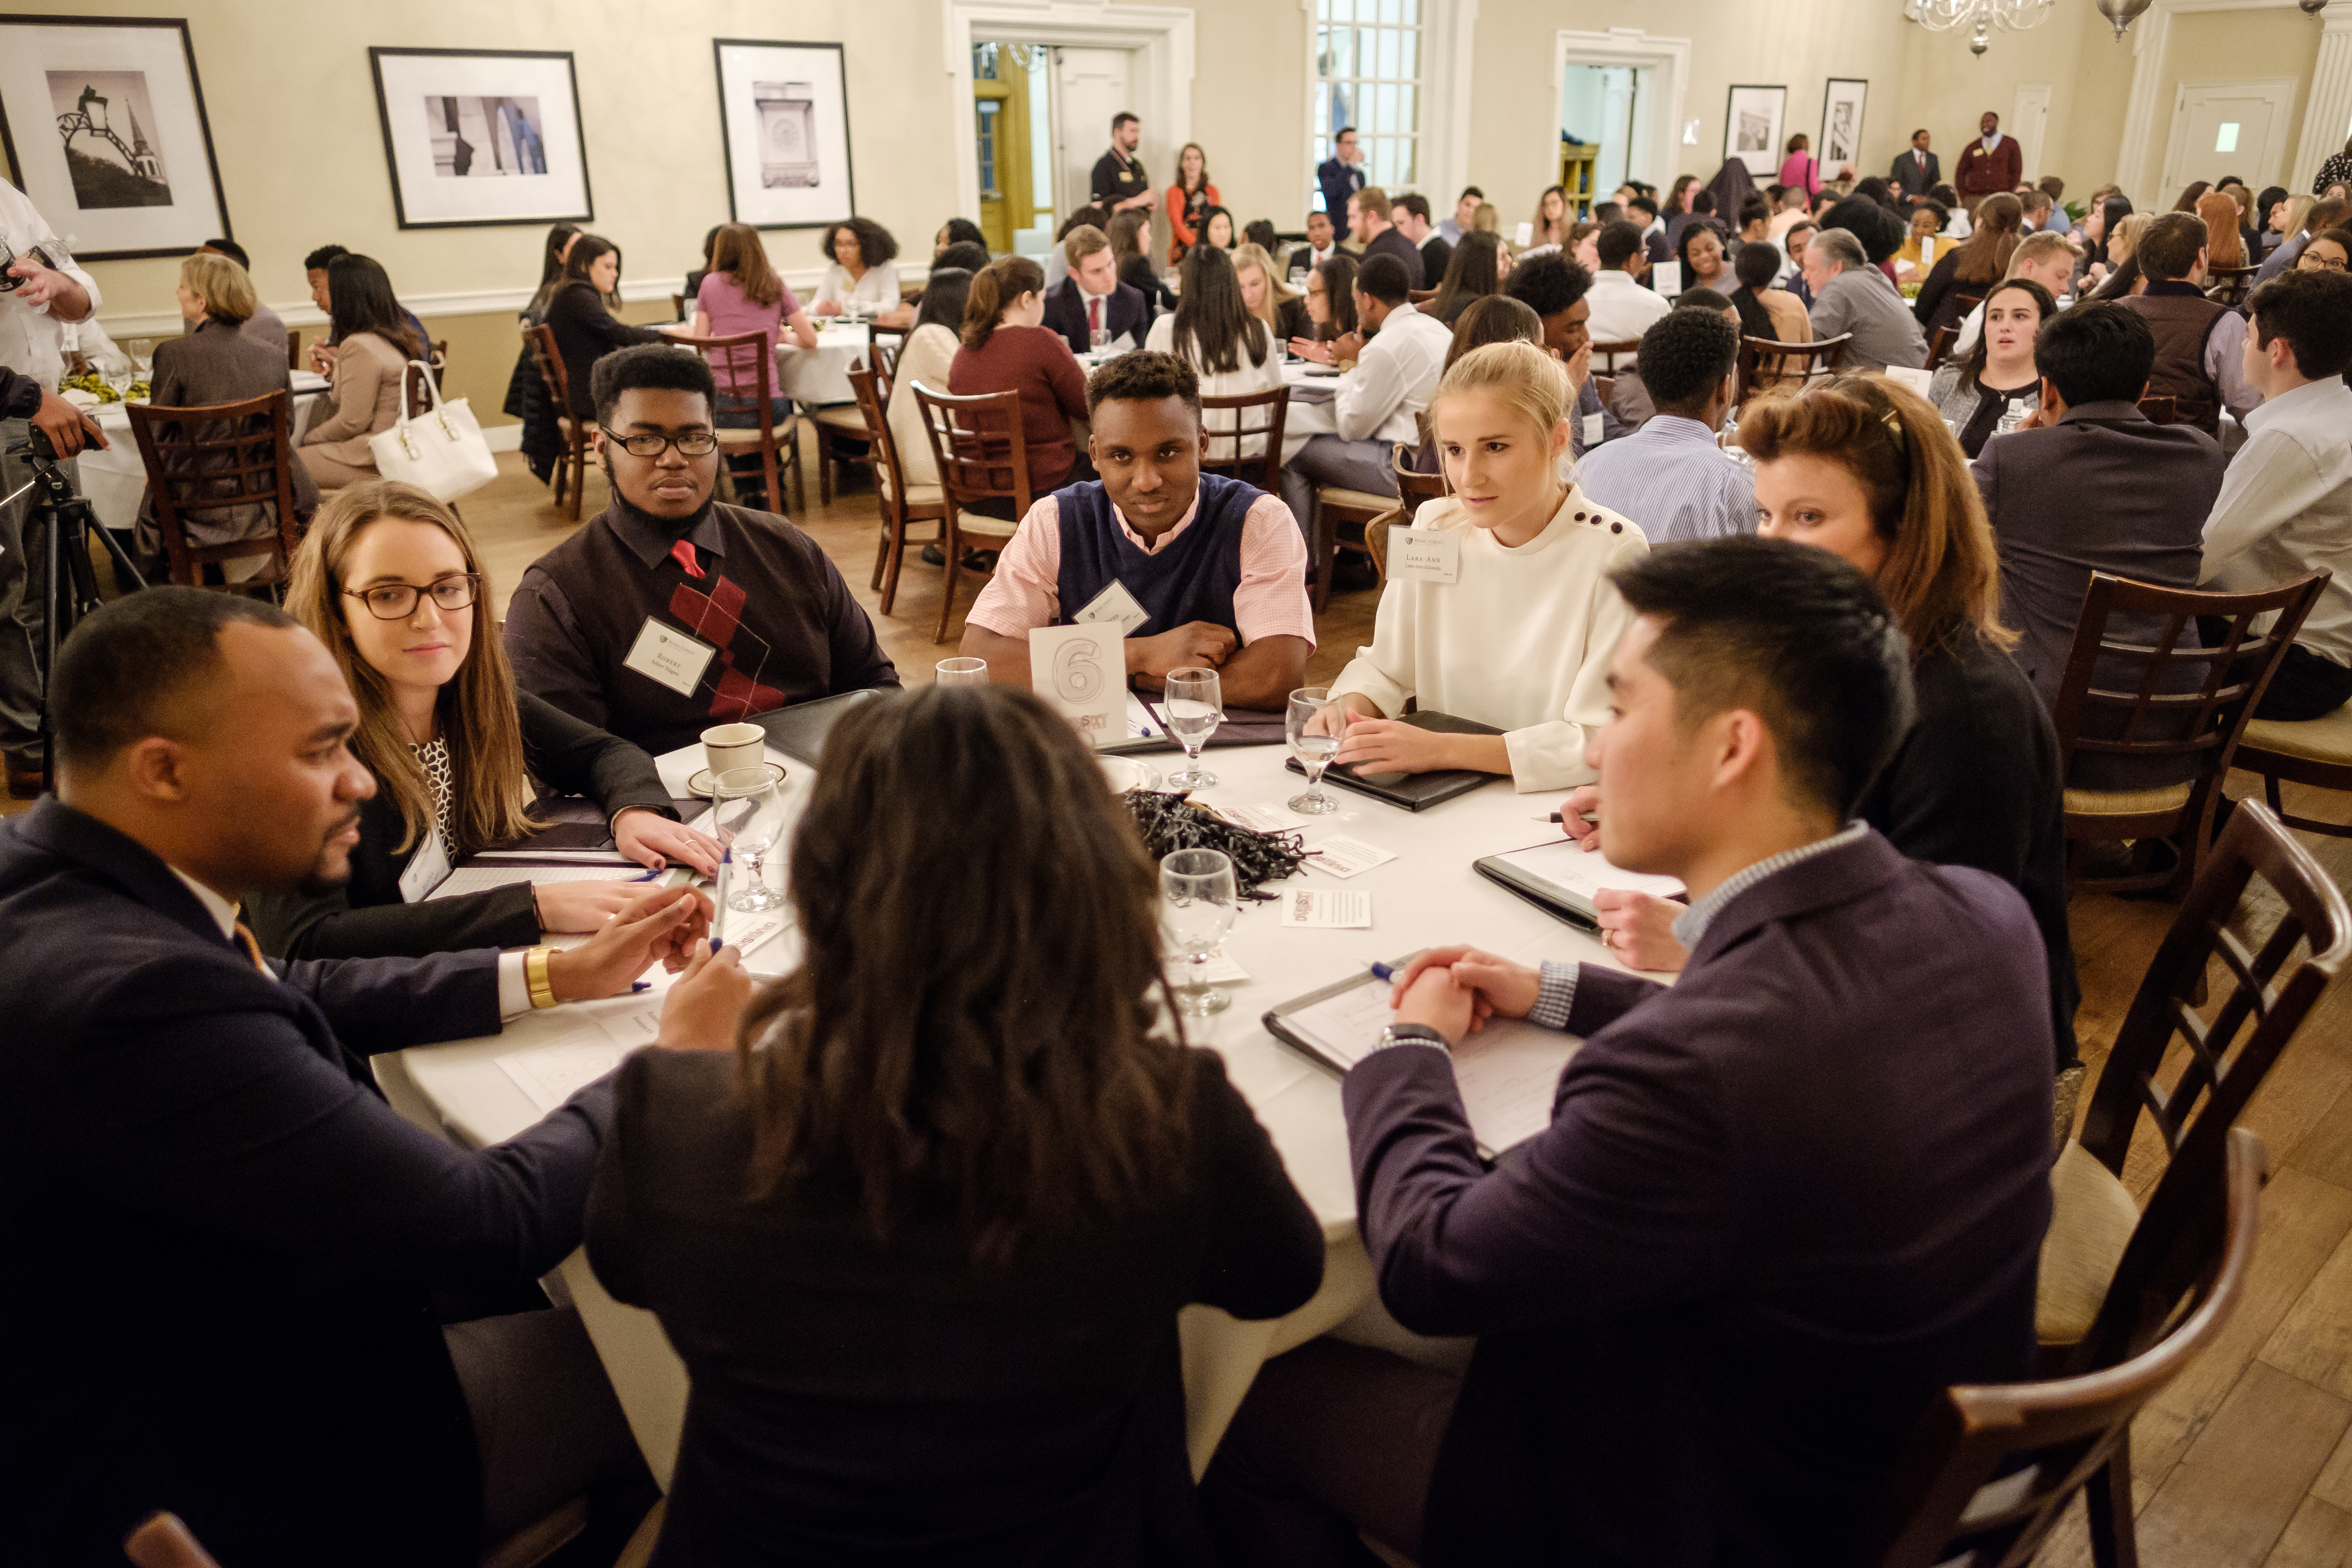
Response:
[[[1136,148],[1145,169],[1174,169],[1176,148],[1192,141],[1192,9],[1181,5],[1073,5],[1070,0],[941,0],[946,7],[948,92],[955,99],[955,209],[978,214],[981,165],[971,129],[971,45],[990,40],[1131,49],[1134,108],[1143,120]],[[1110,127],[1101,127],[1110,146]]]

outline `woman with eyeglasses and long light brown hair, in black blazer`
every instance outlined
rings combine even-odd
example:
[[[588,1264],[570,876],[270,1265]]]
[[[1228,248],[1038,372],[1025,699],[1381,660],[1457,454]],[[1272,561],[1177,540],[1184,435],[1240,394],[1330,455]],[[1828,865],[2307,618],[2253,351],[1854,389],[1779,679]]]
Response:
[[[360,708],[350,750],[376,795],[360,802],[346,886],[247,903],[263,950],[423,957],[595,931],[637,882],[616,872],[426,903],[447,865],[548,825],[532,811],[536,783],[593,799],[637,865],[717,872],[717,842],[677,820],[652,757],[515,689],[473,536],[426,491],[369,480],[336,494],[294,555],[287,609],[343,668]]]

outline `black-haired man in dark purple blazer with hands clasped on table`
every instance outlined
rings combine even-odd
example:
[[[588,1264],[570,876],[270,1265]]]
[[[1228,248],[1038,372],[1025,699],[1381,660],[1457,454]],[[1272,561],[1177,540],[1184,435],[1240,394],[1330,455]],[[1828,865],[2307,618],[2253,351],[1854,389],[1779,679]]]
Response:
[[[1936,1392],[2027,1373],[2049,966],[2016,889],[1851,820],[1903,637],[1778,541],[1616,581],[1609,856],[1689,886],[1691,964],[1399,978],[1343,1091],[1364,1246],[1397,1321],[1477,1352],[1268,1363],[1207,1490],[1232,1563],[1369,1561],[1359,1528],[1425,1568],[1842,1561]],[[1491,1171],[1446,1058],[1489,1013],[1585,1037]]]

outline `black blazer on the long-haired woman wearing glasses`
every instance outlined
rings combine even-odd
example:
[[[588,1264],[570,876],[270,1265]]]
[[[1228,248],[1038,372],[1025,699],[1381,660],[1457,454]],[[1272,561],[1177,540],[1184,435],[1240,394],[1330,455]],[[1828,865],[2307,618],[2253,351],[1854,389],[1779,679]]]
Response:
[[[604,820],[623,806],[647,806],[675,820],[677,806],[642,750],[609,736],[595,724],[574,719],[562,708],[529,691],[515,693],[522,719],[522,762],[532,778],[553,785],[557,795],[586,795],[604,809]],[[350,851],[350,882],[327,893],[256,893],[245,900],[245,919],[270,957],[289,959],[421,959],[428,952],[463,952],[466,947],[529,947],[539,940],[539,910],[532,886],[461,893],[426,903],[400,903],[400,875],[409,870],[419,844],[400,849],[407,820],[390,790],[376,790],[360,802],[360,846]],[[452,844],[459,860],[480,844]],[[614,867],[614,877],[635,877],[637,867]]]

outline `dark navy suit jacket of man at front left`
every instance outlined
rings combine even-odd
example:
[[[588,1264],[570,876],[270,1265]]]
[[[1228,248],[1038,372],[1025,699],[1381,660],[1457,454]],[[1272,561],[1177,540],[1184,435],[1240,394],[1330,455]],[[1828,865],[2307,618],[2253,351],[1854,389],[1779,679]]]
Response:
[[[494,1034],[494,952],[289,964],[56,799],[0,827],[0,1561],[470,1566],[480,1476],[430,1288],[579,1244],[612,1084],[466,1152],[367,1053]]]

